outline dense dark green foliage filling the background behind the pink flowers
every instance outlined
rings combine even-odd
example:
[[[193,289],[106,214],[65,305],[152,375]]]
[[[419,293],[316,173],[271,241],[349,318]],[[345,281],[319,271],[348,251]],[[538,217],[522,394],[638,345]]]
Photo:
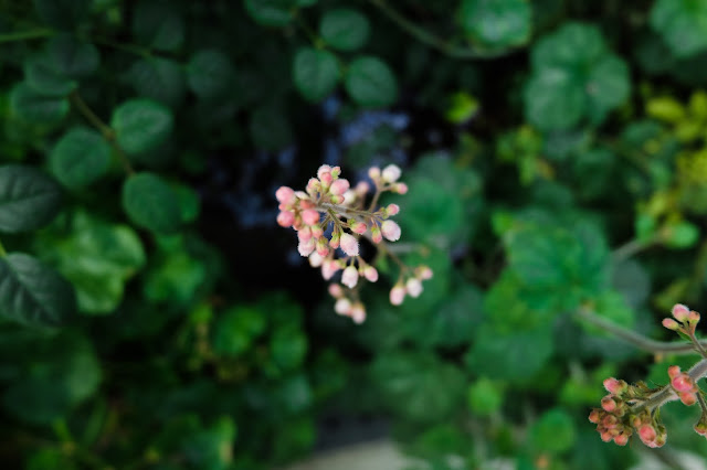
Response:
[[[371,415],[415,469],[636,461],[589,408],[666,357],[578,312],[705,300],[704,2],[0,0],[0,47],[3,466],[266,469]],[[400,164],[434,271],[392,307],[380,263],[360,327],[275,227],[323,162]]]

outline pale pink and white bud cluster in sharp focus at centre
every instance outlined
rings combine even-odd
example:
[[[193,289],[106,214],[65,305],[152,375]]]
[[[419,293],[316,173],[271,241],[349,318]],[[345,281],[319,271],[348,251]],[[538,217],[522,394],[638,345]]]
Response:
[[[279,202],[277,223],[297,232],[299,254],[307,257],[313,267],[320,268],[326,280],[341,271],[340,281],[346,289],[338,284],[329,286],[329,293],[336,299],[335,311],[361,323],[366,320],[366,309],[356,289],[360,279],[376,282],[378,270],[360,256],[359,241],[366,237],[374,246],[383,247],[384,241],[400,238],[400,226],[390,218],[400,212],[400,207],[377,204],[383,192],[405,194],[408,185],[399,181],[401,170],[397,165],[390,164],[382,170],[373,167],[368,172],[373,195],[365,206],[371,185],[360,182],[351,188],[340,174],[339,167],[324,164],[305,191],[279,188],[275,193]],[[342,256],[337,256],[340,253]],[[393,257],[401,266],[400,278],[390,291],[390,301],[400,305],[405,295],[418,297],[422,292],[422,280],[430,279],[432,270],[426,266],[412,269],[389,249],[379,253]]]

